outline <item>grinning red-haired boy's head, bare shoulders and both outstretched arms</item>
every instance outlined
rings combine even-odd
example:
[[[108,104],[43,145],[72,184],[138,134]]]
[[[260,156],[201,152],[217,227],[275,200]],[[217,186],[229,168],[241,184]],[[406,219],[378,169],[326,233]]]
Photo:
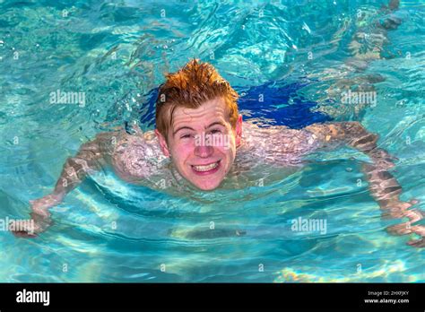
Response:
[[[424,247],[422,214],[408,210],[415,204],[399,199],[401,186],[387,171],[394,166],[390,155],[377,147],[377,134],[358,122],[313,124],[295,130],[286,126],[258,127],[243,122],[238,113],[238,93],[212,65],[192,60],[177,73],[167,74],[160,86],[156,105],[156,129],[135,134],[126,131],[101,133],[66,160],[52,194],[31,201],[34,237],[50,222],[48,208],[59,204],[88,174],[109,166],[120,178],[156,188],[159,178],[169,178],[174,186],[186,183],[212,191],[235,174],[235,166],[249,167],[257,162],[268,166],[297,167],[302,158],[324,148],[348,145],[369,156],[372,163],[363,169],[371,195],[384,215],[407,217],[409,221],[390,227],[395,234],[416,233],[410,245]]]

